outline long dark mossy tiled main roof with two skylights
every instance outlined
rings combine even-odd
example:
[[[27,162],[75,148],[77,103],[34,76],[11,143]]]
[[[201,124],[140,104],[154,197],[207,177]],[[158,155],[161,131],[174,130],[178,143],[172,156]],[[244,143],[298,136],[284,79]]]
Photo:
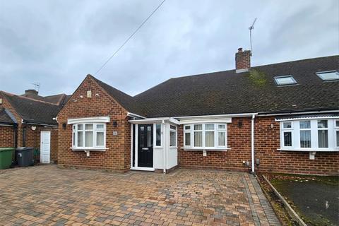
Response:
[[[339,82],[315,74],[331,70],[339,70],[339,56],[171,78],[133,100],[147,117],[339,109]],[[297,85],[276,85],[274,77],[283,75],[292,75]]]

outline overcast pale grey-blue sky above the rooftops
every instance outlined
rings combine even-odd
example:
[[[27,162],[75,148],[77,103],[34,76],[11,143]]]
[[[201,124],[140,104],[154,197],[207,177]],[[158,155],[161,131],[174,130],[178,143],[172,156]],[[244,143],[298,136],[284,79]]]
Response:
[[[71,94],[161,0],[0,0],[0,90]],[[338,0],[167,0],[95,77],[136,95],[169,78],[339,53]]]

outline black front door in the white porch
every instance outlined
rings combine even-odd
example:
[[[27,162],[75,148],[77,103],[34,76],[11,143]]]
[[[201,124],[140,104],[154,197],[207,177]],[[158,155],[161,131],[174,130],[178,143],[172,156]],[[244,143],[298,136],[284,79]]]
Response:
[[[153,167],[153,124],[138,125],[138,167]]]

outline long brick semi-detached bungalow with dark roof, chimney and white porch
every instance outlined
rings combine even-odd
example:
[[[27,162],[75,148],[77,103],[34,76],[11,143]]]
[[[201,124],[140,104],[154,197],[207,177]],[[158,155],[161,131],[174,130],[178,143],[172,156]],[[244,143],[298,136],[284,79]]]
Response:
[[[57,115],[58,164],[339,173],[339,56],[171,78],[134,97],[86,76]]]

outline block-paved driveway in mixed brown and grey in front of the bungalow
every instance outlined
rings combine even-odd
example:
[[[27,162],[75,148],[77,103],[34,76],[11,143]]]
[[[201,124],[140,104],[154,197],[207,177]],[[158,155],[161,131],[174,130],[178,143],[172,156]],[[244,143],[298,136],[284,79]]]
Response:
[[[250,174],[0,170],[0,225],[280,225]]]

